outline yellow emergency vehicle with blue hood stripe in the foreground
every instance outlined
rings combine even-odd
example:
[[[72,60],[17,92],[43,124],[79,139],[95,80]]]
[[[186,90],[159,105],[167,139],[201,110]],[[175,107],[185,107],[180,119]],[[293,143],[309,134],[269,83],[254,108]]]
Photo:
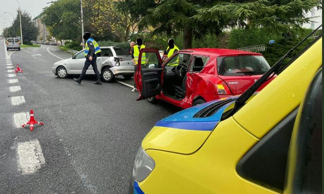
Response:
[[[129,194],[322,194],[322,35],[247,91],[157,122]]]

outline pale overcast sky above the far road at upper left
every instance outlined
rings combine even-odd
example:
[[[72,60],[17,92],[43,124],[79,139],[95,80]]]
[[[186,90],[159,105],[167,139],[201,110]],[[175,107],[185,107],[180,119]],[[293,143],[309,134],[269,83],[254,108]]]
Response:
[[[31,18],[38,16],[43,8],[48,6],[48,2],[52,0],[18,0],[22,10],[27,11]],[[12,24],[12,16],[4,12],[10,12],[16,17],[18,10],[17,0],[0,0],[0,34],[2,34],[3,26]],[[9,21],[10,22],[9,22]],[[4,23],[4,24],[3,24]]]

